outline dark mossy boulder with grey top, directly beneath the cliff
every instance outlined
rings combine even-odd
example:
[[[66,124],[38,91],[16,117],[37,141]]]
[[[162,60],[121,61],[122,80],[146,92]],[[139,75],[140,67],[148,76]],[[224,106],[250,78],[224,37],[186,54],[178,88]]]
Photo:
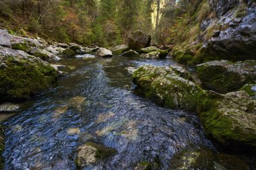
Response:
[[[216,60],[197,65],[197,75],[203,87],[218,93],[236,91],[246,83],[256,81],[256,60],[230,62]]]

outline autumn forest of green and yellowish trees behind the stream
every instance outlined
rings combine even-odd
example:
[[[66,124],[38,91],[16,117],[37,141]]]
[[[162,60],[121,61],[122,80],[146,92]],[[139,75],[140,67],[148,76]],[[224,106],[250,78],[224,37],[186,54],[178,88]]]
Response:
[[[115,46],[135,30],[169,41],[170,25],[188,0],[1,0],[0,27],[58,42]],[[19,29],[17,29],[19,28]]]

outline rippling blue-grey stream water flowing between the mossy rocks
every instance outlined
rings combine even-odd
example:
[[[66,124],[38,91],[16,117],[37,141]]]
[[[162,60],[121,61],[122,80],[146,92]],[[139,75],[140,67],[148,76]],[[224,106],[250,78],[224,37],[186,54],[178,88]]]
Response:
[[[58,64],[69,75],[5,122],[5,169],[75,169],[77,148],[89,140],[118,153],[87,169],[134,169],[156,159],[167,169],[175,153],[210,145],[194,114],[161,108],[133,93],[126,67],[174,65],[170,59],[90,57]]]

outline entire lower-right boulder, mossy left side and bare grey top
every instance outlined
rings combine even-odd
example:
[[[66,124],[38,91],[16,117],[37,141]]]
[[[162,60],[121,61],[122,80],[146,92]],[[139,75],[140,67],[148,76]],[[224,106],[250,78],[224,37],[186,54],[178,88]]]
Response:
[[[203,91],[197,112],[205,134],[222,146],[256,147],[256,100],[245,91]]]

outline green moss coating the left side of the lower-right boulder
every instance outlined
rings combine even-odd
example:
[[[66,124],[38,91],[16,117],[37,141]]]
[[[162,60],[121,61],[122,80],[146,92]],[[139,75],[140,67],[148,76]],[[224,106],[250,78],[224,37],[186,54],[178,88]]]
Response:
[[[256,146],[256,134],[245,132],[243,128],[234,126],[238,122],[230,118],[228,114],[218,110],[220,103],[226,103],[226,101],[222,95],[217,93],[209,91],[199,95],[197,113],[203,124],[205,134],[223,145],[249,144]]]

